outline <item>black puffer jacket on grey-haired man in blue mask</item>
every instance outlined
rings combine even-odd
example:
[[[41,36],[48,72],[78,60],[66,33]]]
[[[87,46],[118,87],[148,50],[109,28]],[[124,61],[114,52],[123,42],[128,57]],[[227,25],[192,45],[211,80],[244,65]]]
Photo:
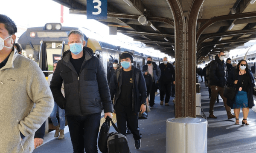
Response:
[[[83,48],[83,53],[85,58],[80,74],[77,74],[70,62],[70,50],[58,61],[50,85],[54,100],[61,109],[65,109],[66,115],[84,116],[101,113],[102,105],[105,113],[112,113],[113,105],[102,62],[93,56],[92,49],[88,47]],[[61,93],[62,82],[65,98]]]

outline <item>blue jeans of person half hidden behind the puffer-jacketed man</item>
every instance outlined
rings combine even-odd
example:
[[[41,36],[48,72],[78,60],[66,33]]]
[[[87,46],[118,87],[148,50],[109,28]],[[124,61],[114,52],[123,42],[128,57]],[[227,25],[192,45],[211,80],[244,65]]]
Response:
[[[65,110],[58,107],[57,103],[54,102],[54,108],[53,108],[52,113],[50,115],[53,126],[58,126],[58,120],[57,120],[57,117],[56,117],[57,111],[58,111],[58,115],[59,115],[59,119],[60,119],[60,129],[64,130],[65,122],[66,122],[66,120],[65,120]]]

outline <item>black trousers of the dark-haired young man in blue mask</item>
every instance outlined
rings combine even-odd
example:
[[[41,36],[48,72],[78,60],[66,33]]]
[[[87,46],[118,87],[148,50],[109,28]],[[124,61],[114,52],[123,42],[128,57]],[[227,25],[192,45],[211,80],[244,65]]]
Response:
[[[133,134],[134,140],[141,139],[140,135],[140,127],[138,126],[138,113],[134,114],[132,112],[132,108],[121,105],[120,103],[116,102],[115,105],[116,111],[116,121],[117,121],[117,128],[123,135],[126,136],[126,125],[131,130]]]

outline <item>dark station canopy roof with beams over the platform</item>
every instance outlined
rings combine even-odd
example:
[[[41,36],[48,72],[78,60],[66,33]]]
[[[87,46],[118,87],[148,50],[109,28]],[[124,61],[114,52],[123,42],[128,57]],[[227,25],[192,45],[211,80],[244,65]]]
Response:
[[[70,13],[87,13],[87,0],[53,1],[70,8]],[[109,27],[116,27],[117,32],[174,58],[175,24],[168,5],[171,1],[108,0],[108,19],[98,21]],[[177,1],[186,18],[193,0]],[[255,0],[204,1],[196,27],[198,62],[209,60],[209,57],[214,57],[219,51],[230,51],[256,39],[256,3],[253,1]]]

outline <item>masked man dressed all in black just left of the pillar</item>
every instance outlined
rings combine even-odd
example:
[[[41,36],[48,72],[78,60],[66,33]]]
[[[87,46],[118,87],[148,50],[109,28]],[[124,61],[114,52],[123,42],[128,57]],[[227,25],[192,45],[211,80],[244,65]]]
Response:
[[[160,105],[163,105],[164,95],[165,105],[169,106],[168,102],[171,97],[172,82],[175,85],[175,70],[171,63],[168,62],[167,57],[163,57],[163,63],[159,65],[161,70],[161,77],[159,80],[159,90],[160,90]]]

